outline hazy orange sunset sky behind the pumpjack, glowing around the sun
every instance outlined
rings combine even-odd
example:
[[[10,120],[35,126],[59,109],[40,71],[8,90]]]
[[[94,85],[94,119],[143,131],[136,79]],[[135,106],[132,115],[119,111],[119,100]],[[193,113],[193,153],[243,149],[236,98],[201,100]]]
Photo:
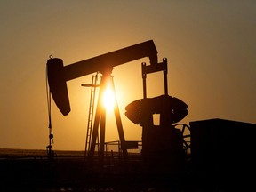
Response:
[[[154,40],[168,59],[169,95],[188,104],[180,123],[223,118],[256,124],[256,1],[0,0],[0,148],[45,148],[48,111],[45,65],[64,65]],[[142,98],[141,62],[112,75],[126,140],[141,127],[124,108]],[[52,102],[54,149],[84,150],[92,75],[68,82],[71,112]],[[148,97],[164,93],[162,73],[148,76]],[[118,140],[107,115],[107,140]]]

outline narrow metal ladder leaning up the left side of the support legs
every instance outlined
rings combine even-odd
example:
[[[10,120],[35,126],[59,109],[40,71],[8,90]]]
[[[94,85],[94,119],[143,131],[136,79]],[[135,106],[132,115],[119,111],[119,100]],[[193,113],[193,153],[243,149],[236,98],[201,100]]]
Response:
[[[92,86],[91,86],[91,96],[90,96],[90,105],[89,105],[89,116],[88,116],[88,123],[87,123],[87,132],[86,132],[86,140],[85,140],[85,150],[84,155],[88,155],[90,144],[91,144],[91,136],[92,136],[92,120],[94,114],[94,100],[95,100],[95,90],[97,87],[97,80],[98,80],[98,72],[95,76],[92,76]]]

